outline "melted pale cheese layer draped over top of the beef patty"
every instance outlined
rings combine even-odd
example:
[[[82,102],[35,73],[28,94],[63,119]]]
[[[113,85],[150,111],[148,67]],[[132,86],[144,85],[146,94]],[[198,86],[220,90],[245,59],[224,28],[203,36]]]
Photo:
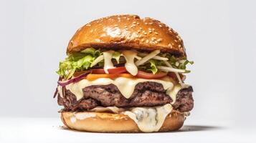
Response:
[[[93,81],[89,81],[87,79],[82,79],[80,82],[68,84],[66,88],[70,90],[75,96],[77,97],[77,100],[82,99],[83,92],[82,89],[85,87],[89,87],[92,85],[108,85],[108,84],[114,84],[116,87],[118,87],[119,91],[123,96],[128,99],[131,97],[131,94],[133,94],[134,88],[138,83],[141,82],[157,82],[159,84],[163,85],[163,89],[172,89],[174,87],[174,84],[169,77],[163,77],[162,79],[130,79],[126,77],[117,77],[115,79],[110,78],[99,78],[95,79]]]

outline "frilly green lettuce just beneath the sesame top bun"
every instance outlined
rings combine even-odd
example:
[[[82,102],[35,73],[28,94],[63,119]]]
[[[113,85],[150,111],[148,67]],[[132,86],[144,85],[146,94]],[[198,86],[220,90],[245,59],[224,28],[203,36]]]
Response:
[[[87,48],[80,52],[72,53],[67,56],[64,61],[60,61],[57,74],[65,79],[70,79],[75,71],[83,71],[90,68],[90,64],[93,63],[98,56],[103,55],[103,52],[99,49]],[[113,53],[113,59],[119,64],[119,59],[122,54],[118,51]],[[169,63],[176,69],[185,69],[187,64],[194,64],[194,61],[189,61],[186,58],[177,58],[171,54],[161,54],[160,56],[169,59]],[[104,66],[104,61],[98,62],[97,66]],[[166,66],[163,61],[157,59],[150,59],[145,64],[138,66],[138,69],[143,71],[151,71],[153,74],[158,72],[157,66]],[[186,73],[190,72],[186,70]]]

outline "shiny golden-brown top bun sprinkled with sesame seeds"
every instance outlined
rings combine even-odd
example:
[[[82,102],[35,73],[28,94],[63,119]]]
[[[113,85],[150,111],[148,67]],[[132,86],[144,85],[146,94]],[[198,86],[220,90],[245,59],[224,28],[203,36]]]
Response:
[[[183,41],[176,31],[151,18],[115,15],[92,21],[78,29],[70,39],[67,54],[88,47],[103,49],[160,49],[176,56],[186,56]]]

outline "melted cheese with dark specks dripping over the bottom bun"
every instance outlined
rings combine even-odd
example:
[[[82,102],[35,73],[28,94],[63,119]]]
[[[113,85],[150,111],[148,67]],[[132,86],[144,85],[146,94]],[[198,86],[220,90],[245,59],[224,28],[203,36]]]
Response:
[[[157,132],[171,110],[171,104],[166,104],[161,107],[135,107],[123,114],[133,119],[142,132]]]

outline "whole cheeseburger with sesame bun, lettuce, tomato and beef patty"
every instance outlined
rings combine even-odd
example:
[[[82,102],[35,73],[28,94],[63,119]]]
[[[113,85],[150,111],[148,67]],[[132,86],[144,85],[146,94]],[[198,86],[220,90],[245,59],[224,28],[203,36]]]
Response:
[[[183,41],[161,21],[115,15],[78,29],[60,61],[62,122],[87,132],[180,129],[194,106]]]

